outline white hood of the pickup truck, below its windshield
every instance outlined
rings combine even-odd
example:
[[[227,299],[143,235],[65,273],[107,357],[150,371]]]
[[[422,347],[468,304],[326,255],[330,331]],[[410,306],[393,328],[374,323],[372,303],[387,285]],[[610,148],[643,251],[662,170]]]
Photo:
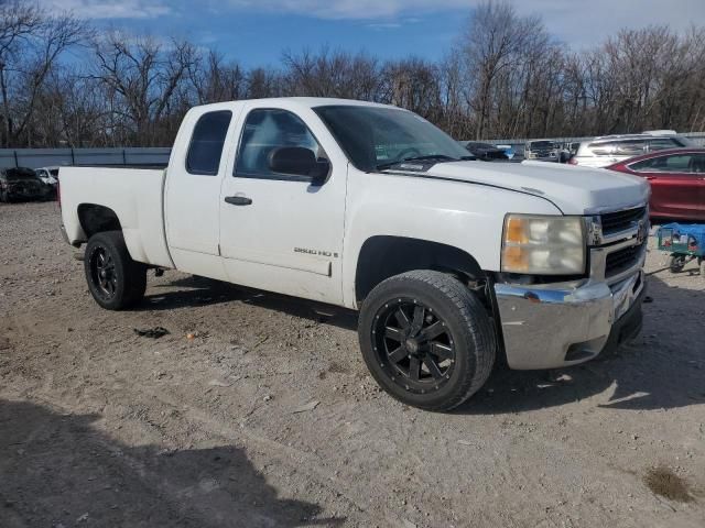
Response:
[[[452,162],[437,163],[423,174],[540,196],[564,215],[586,215],[649,200],[649,184],[644,179],[603,168],[545,162]]]

